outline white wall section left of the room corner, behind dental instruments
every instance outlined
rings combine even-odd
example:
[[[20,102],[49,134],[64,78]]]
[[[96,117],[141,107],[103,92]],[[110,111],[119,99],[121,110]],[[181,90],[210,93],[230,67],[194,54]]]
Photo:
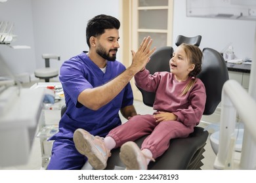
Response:
[[[12,73],[33,72],[35,69],[35,46],[33,42],[33,23],[31,0],[9,0],[0,3],[0,22],[9,21],[14,24],[14,34],[18,35],[13,45],[26,44],[30,50],[13,50],[0,44],[0,59],[10,67]],[[1,66],[0,66],[1,67]],[[0,76],[5,75],[1,67]]]

